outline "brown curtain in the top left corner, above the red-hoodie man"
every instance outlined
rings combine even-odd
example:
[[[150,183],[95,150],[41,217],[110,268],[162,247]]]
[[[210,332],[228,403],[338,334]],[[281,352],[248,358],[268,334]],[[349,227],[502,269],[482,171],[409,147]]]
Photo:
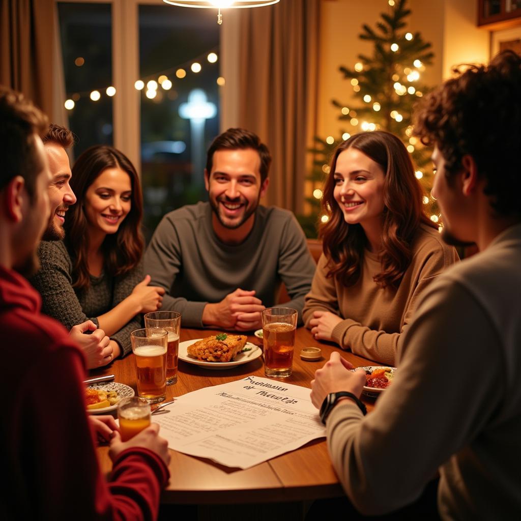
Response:
[[[0,84],[52,117],[54,0],[0,0]]]

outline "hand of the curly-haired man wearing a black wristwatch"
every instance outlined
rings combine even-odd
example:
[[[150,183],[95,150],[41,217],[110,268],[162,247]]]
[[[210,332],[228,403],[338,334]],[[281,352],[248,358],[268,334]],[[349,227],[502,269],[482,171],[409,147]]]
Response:
[[[319,409],[326,396],[332,392],[349,391],[355,396],[362,394],[365,386],[366,374],[364,369],[357,369],[354,373],[353,364],[333,351],[329,361],[315,373],[311,381],[311,401]]]

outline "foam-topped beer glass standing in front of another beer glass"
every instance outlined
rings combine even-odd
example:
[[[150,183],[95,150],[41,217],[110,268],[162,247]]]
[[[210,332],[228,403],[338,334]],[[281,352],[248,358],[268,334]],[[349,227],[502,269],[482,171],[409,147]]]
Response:
[[[137,372],[138,395],[148,403],[166,398],[166,352],[168,331],[137,329],[130,333]]]

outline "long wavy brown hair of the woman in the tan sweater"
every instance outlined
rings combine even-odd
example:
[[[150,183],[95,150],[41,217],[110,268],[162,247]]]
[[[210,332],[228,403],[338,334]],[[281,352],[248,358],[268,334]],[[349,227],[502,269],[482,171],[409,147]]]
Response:
[[[411,264],[411,243],[421,222],[435,228],[436,225],[425,215],[424,192],[414,175],[413,163],[405,145],[393,134],[383,131],[355,134],[342,142],[333,154],[322,197],[322,209],[329,220],[319,230],[324,254],[328,257],[328,277],[336,277],[345,286],[353,286],[360,277],[367,245],[362,226],[346,224],[333,196],[338,156],[351,147],[373,159],[384,172],[382,270],[374,280],[382,288],[398,288],[405,270]]]

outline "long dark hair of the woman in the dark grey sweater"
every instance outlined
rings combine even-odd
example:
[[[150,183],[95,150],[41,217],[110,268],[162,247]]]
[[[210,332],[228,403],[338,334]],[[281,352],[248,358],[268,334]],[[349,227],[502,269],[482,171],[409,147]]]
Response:
[[[69,207],[65,219],[65,244],[72,258],[72,286],[80,290],[90,285],[87,264],[88,222],[83,202],[90,185],[107,168],[121,168],[128,173],[132,185],[132,204],[118,231],[107,234],[101,246],[106,274],[110,277],[126,274],[138,265],[143,255],[144,241],[140,229],[143,199],[138,174],[130,159],[116,148],[106,145],[91,146],[78,157],[72,167],[70,186],[78,201]]]

